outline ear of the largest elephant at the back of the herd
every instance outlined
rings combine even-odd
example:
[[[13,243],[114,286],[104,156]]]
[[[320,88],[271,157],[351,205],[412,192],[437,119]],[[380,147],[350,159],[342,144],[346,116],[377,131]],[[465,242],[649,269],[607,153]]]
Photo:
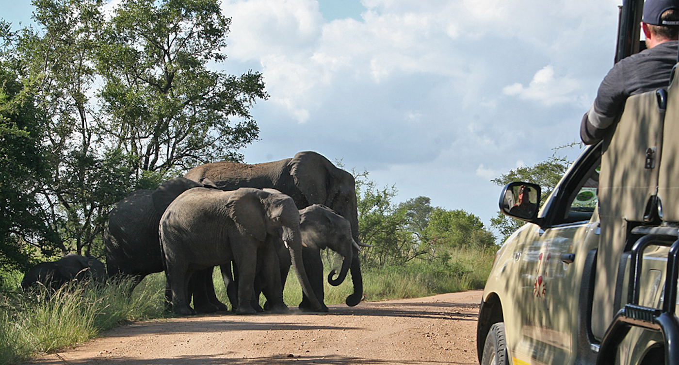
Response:
[[[338,170],[327,158],[316,152],[299,152],[288,162],[295,186],[306,196],[309,204],[325,204],[327,182],[333,170]]]

